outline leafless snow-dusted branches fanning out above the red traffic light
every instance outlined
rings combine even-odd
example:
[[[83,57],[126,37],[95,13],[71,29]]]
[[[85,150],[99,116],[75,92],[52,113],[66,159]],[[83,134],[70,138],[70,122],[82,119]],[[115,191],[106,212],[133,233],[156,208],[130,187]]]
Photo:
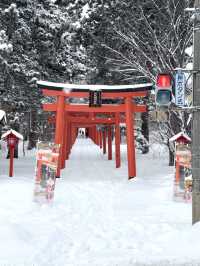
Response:
[[[127,79],[155,80],[162,71],[172,71],[187,64],[186,48],[191,44],[193,23],[185,8],[188,0],[140,1],[136,11],[126,16],[125,24],[115,24],[113,30],[118,42],[126,45],[108,48],[112,51],[110,61],[116,71]]]

